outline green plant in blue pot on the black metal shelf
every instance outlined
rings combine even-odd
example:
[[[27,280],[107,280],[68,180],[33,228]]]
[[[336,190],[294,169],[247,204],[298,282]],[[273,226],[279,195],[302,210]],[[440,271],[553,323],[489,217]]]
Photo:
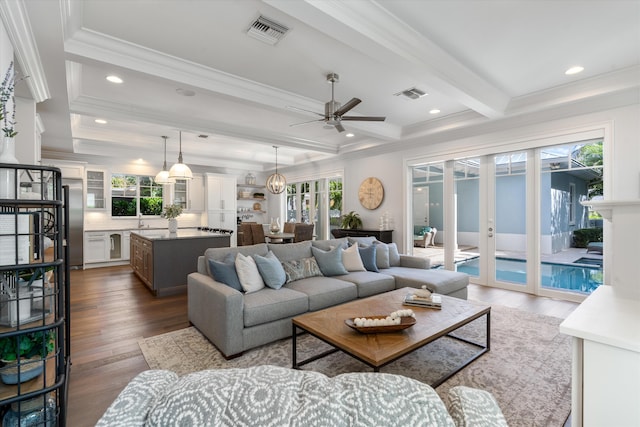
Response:
[[[55,348],[53,330],[0,338],[0,378],[5,384],[29,381],[42,373],[44,358]]]

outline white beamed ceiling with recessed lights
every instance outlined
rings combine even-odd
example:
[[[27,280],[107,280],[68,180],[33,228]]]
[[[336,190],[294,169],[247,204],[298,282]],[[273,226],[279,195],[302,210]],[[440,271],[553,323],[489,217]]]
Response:
[[[37,53],[21,55],[18,43],[18,62],[32,92],[39,79],[48,90],[38,112],[43,157],[54,159],[159,164],[168,135],[171,163],[181,130],[192,167],[260,171],[273,168],[274,145],[285,166],[393,150],[589,99],[597,108],[602,96],[640,87],[640,1],[11,0],[2,8],[5,26],[20,27],[9,10],[31,29],[23,32]],[[248,37],[259,15],[290,31],[273,46]],[[573,65],[584,72],[565,75]],[[317,116],[287,107],[324,112],[330,72],[340,75],[337,101],[363,101],[351,115],[386,121],[343,122],[353,138],[321,122],[291,127]],[[110,74],[124,83],[107,82]],[[411,87],[428,95],[394,96]]]

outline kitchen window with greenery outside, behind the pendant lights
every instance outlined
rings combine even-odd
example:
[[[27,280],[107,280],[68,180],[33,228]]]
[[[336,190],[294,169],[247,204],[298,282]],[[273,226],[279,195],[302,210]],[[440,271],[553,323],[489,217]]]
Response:
[[[136,217],[162,213],[162,185],[151,176],[111,175],[111,216]]]

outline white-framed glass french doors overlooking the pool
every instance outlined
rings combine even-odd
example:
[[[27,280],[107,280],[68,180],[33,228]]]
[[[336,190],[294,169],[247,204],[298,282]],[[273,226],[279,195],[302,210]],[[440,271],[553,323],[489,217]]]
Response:
[[[602,145],[596,138],[413,165],[414,235],[418,226],[438,229],[427,256],[473,283],[579,301],[603,277],[601,255],[573,240],[585,229],[597,235],[597,218],[579,200],[602,194]]]

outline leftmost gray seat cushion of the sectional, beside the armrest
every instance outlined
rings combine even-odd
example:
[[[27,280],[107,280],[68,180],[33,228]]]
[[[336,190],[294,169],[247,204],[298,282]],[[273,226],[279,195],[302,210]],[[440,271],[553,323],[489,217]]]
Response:
[[[256,326],[306,313],[309,298],[292,289],[264,288],[244,296],[244,326]]]

